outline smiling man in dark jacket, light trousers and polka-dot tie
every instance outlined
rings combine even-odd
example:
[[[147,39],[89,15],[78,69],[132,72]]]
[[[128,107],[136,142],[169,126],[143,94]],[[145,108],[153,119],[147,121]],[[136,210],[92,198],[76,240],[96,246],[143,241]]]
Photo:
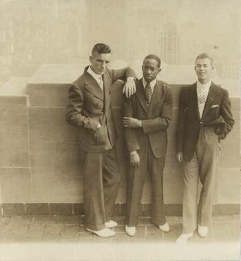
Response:
[[[177,242],[187,242],[198,225],[198,235],[207,236],[212,196],[216,189],[220,140],[234,121],[227,90],[211,82],[213,60],[206,53],[196,58],[198,82],[180,91],[176,130],[177,159],[184,169],[183,224]],[[202,183],[199,205],[198,180]]]

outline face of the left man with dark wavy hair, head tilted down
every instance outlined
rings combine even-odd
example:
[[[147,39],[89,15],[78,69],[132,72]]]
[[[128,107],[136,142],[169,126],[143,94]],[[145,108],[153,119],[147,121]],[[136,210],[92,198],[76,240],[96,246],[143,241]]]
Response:
[[[98,54],[98,52],[94,52],[92,56],[90,56],[90,67],[96,74],[104,74],[107,65],[111,59],[112,54]]]

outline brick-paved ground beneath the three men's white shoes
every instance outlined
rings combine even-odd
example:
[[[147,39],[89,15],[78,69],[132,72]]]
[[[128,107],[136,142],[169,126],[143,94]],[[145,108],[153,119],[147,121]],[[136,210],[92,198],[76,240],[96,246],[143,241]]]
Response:
[[[81,216],[11,216],[0,218],[0,242],[175,242],[181,231],[181,217],[169,216],[169,233],[163,233],[149,218],[140,218],[136,236],[125,233],[125,218],[114,217],[118,227],[113,238],[99,238],[85,230]],[[213,216],[207,238],[196,232],[189,242],[238,242],[240,216]]]

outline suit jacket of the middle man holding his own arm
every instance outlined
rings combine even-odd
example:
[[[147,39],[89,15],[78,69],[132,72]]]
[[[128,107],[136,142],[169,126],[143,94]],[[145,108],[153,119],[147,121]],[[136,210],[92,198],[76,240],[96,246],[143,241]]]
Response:
[[[123,116],[137,118],[143,122],[142,128],[125,128],[125,142],[129,152],[145,146],[148,137],[152,152],[156,158],[167,152],[167,127],[171,123],[171,88],[163,81],[154,86],[151,102],[147,105],[143,80],[136,82],[136,93],[131,98],[123,98]]]

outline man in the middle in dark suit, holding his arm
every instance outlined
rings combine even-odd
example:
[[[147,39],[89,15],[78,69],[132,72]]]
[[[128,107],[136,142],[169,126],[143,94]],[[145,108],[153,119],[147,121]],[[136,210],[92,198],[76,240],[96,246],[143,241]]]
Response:
[[[136,233],[138,209],[147,173],[151,176],[151,219],[168,232],[163,211],[163,168],[167,152],[167,127],[171,123],[171,89],[156,76],[160,58],[149,54],[143,61],[143,78],[136,82],[136,93],[123,99],[125,143],[129,152],[127,174],[127,225],[129,236]]]

